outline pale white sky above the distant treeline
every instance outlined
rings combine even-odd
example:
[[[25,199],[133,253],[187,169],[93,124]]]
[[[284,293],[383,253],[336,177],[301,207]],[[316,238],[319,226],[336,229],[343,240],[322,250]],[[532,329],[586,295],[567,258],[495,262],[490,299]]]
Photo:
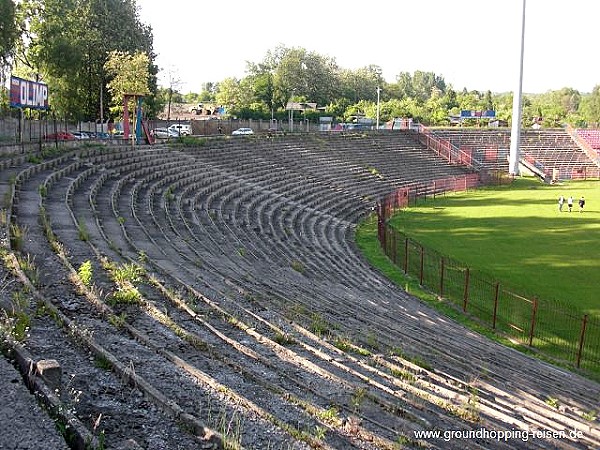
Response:
[[[335,59],[344,69],[434,72],[455,90],[514,91],[523,0],[137,0],[150,25],[159,84],[182,93],[243,78],[279,45]],[[523,92],[600,85],[597,0],[526,0]]]

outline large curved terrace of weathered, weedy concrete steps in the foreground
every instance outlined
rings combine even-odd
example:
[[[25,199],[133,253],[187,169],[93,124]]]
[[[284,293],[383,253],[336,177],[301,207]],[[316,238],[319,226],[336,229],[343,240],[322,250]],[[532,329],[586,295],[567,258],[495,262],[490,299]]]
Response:
[[[504,145],[447,133],[482,161]],[[466,330],[357,250],[386,194],[475,173],[413,133],[86,145],[0,170],[5,250],[35,299],[12,351],[60,363],[83,442],[463,449],[419,433],[483,427],[565,435],[468,448],[600,446],[597,383]]]

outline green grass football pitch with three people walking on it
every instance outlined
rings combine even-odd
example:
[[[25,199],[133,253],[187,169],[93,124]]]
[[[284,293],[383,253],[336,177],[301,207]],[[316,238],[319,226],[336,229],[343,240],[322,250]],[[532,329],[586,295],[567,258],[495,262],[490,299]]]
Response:
[[[558,208],[563,195],[573,210]],[[578,200],[585,197],[583,212]],[[600,182],[519,178],[420,200],[394,228],[524,296],[600,317]]]

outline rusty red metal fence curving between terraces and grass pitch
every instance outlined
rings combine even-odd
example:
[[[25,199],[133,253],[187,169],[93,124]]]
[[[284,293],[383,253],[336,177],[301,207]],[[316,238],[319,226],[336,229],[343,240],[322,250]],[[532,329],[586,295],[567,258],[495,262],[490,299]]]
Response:
[[[477,318],[493,330],[575,367],[600,368],[600,320],[573,305],[529,298],[468,266],[427,248],[394,229],[388,219],[395,209],[426,195],[464,191],[473,176],[437,180],[398,189],[377,208],[378,237],[385,254],[405,274]],[[443,187],[443,188],[442,188]],[[443,191],[442,189],[446,189]]]

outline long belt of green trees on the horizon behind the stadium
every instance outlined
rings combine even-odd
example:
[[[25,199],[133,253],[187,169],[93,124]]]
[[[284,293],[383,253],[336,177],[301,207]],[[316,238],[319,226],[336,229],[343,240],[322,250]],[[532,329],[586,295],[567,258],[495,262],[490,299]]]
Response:
[[[71,0],[74,1],[74,0]],[[387,83],[379,66],[369,65],[357,70],[342,69],[330,57],[304,48],[276,47],[259,63],[248,63],[247,76],[227,78],[207,83],[196,101],[217,102],[230,114],[240,118],[285,119],[289,101],[315,102],[325,107],[323,113],[306,113],[316,119],[320,114],[336,119],[375,118],[377,88],[380,91],[380,120],[406,117],[425,124],[445,125],[449,115],[461,109],[496,111],[496,116],[510,122],[512,93],[493,94],[490,90],[463,89],[455,91],[444,78],[433,72],[417,70],[401,72],[395,83]],[[176,95],[174,93],[174,95]],[[596,96],[581,96],[576,90],[564,88],[523,98],[524,126],[535,117],[553,118],[544,125],[582,123],[597,120],[594,114]],[[585,111],[585,114],[584,114]],[[467,125],[479,124],[472,120]]]

